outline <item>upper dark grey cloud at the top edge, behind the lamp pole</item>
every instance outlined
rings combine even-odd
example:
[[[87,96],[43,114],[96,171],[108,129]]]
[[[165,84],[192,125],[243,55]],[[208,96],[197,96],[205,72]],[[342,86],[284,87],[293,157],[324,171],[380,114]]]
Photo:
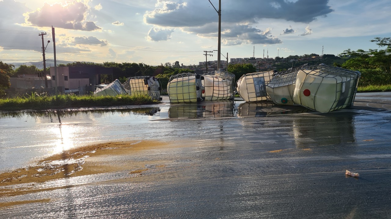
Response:
[[[160,1],[158,1],[160,2]],[[333,10],[328,0],[226,0],[222,4],[222,20],[230,23],[254,23],[262,18],[283,19],[287,21],[310,23],[319,16]],[[217,12],[209,2],[189,0],[177,3],[161,2],[160,8],[144,14],[148,24],[172,27],[201,26],[216,21]],[[175,5],[175,7],[173,6]]]

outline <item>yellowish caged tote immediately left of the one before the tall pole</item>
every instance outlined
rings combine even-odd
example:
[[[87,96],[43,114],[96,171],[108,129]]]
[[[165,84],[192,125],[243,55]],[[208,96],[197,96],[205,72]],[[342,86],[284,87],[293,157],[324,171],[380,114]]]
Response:
[[[201,76],[183,73],[170,77],[167,84],[170,102],[201,101]]]

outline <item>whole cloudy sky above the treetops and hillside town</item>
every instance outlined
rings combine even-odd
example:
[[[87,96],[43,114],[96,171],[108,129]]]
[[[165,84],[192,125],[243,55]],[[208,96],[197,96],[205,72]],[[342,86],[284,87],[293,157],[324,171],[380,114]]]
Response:
[[[41,32],[52,60],[53,26],[57,60],[197,65],[218,46],[219,1],[210,2],[0,0],[0,61],[41,61]],[[334,55],[376,49],[371,39],[391,37],[390,9],[389,0],[222,0],[221,53],[274,58],[321,55],[322,46]]]

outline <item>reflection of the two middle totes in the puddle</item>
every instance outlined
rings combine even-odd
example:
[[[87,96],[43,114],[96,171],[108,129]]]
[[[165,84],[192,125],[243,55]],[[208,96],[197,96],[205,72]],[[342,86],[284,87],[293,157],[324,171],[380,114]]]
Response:
[[[235,117],[233,101],[203,101],[172,104],[169,118]]]

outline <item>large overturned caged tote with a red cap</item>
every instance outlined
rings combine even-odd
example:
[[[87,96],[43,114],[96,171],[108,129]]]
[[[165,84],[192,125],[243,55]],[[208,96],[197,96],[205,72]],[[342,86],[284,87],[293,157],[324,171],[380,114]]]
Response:
[[[360,75],[357,71],[324,64],[300,70],[293,101],[321,113],[352,106]]]

